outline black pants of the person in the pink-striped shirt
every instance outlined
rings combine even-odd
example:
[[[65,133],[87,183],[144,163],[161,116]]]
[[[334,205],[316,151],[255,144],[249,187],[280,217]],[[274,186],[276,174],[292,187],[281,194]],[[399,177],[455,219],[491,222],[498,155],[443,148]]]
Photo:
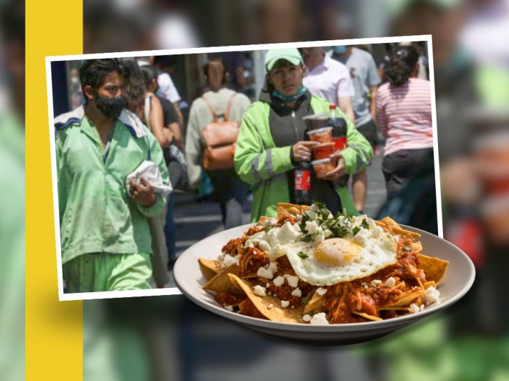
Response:
[[[433,173],[433,149],[404,149],[385,155],[382,161],[387,198],[398,193],[419,174]]]

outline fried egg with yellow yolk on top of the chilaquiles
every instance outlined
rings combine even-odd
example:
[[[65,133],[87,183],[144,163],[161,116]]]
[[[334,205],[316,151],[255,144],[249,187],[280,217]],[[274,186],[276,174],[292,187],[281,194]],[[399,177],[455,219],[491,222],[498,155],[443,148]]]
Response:
[[[336,285],[364,278],[396,263],[396,244],[378,229],[364,229],[359,237],[330,238],[322,242],[295,242],[284,246],[298,277],[315,286]]]

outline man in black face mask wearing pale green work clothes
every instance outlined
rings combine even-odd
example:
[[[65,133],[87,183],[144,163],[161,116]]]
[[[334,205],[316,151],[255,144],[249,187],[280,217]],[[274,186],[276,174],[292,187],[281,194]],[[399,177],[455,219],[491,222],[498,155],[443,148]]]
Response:
[[[154,136],[124,110],[118,60],[80,69],[85,105],[55,119],[63,276],[69,292],[150,289],[152,239],[147,217],[165,200],[144,179],[126,177],[144,160],[168,170]]]

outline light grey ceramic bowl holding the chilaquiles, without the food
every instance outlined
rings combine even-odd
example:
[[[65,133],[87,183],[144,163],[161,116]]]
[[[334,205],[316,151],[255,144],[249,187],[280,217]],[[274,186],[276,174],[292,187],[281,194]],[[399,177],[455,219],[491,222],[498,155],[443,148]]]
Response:
[[[197,262],[199,257],[215,260],[229,239],[241,237],[250,226],[252,225],[239,226],[202,239],[180,255],[173,272],[177,287],[194,303],[270,337],[309,345],[346,345],[376,339],[444,310],[445,307],[460,300],[474,282],[474,264],[460,248],[428,232],[403,225],[403,228],[421,234],[423,254],[449,261],[445,276],[438,285],[439,304],[430,305],[425,310],[414,314],[365,323],[309,325],[255,319],[220,307],[212,294],[202,288],[207,281],[202,276]]]

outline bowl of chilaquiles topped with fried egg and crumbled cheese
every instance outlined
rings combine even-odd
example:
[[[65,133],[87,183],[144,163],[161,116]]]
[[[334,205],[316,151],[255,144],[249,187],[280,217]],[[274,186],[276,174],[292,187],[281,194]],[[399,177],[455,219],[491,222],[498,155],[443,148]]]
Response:
[[[374,221],[346,212],[332,215],[321,203],[310,207],[279,203],[277,218],[261,217],[247,228],[235,228],[243,234],[230,234],[233,238],[223,241],[220,252],[207,257],[195,253],[200,287],[210,297],[207,303],[193,295],[191,287],[181,285],[185,281],[177,274],[183,272],[177,269],[179,261],[175,280],[202,307],[269,335],[277,336],[277,330],[326,334],[380,328],[378,335],[350,335],[344,340],[364,341],[441,308],[441,281],[450,262],[446,257],[453,258],[453,251],[460,252],[463,284],[446,287],[446,305],[473,282],[474,267],[458,248],[407,228],[389,217]],[[429,245],[433,248],[423,247],[421,238],[433,242]],[[440,258],[435,241],[446,248],[445,258]],[[313,338],[300,336],[308,342]]]

